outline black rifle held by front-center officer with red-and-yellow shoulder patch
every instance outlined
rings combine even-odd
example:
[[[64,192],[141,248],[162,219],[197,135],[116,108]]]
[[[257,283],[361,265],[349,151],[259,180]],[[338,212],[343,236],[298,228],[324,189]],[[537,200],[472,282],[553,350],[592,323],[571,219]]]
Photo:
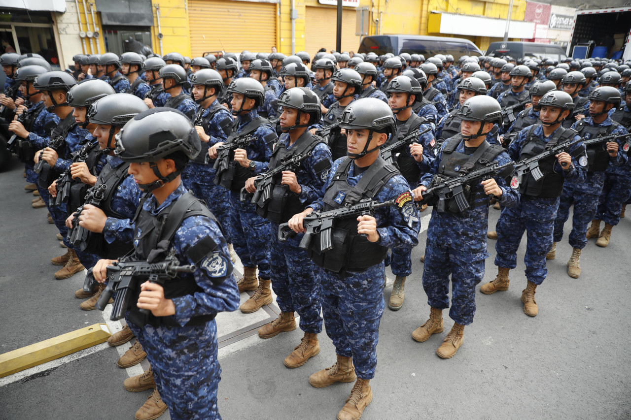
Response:
[[[331,241],[331,231],[333,231],[333,222],[335,219],[343,218],[357,218],[364,214],[373,214],[375,209],[379,207],[394,206],[397,204],[396,200],[389,200],[386,202],[372,201],[366,199],[358,202],[350,207],[339,207],[338,209],[332,209],[327,211],[314,211],[311,214],[305,216],[302,226],[305,228],[305,235],[302,237],[299,248],[306,250],[309,248],[314,235],[320,233],[320,249],[322,252],[326,252],[333,248],[333,242]],[[293,236],[293,230],[289,227],[288,223],[282,223],[278,226],[278,240],[284,242],[290,236]]]

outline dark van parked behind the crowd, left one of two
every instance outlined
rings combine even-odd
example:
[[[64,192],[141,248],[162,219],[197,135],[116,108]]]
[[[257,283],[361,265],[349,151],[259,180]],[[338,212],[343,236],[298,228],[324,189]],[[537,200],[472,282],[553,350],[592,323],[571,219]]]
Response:
[[[436,54],[451,54],[456,60],[461,55],[482,55],[480,49],[468,39],[425,35],[371,35],[362,39],[358,52],[374,52],[377,55],[407,52],[423,54],[425,58]]]

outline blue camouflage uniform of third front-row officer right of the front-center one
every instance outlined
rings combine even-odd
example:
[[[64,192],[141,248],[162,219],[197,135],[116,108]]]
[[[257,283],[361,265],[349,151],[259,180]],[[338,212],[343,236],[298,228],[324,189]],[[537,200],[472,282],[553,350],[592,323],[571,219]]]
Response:
[[[594,126],[592,117],[586,117],[584,121]],[[572,127],[575,127],[578,122]],[[606,127],[613,124],[610,117],[607,117],[604,122],[598,124],[598,127],[603,127],[603,131]],[[616,127],[611,131],[611,134],[625,134],[627,131],[623,129],[622,125]],[[587,134],[586,140],[589,140],[591,136]],[[615,158],[609,158],[609,166],[620,166],[627,164],[627,154],[622,153],[622,143],[616,139],[616,143],[620,146],[618,156]],[[565,184],[563,185],[563,194],[561,194],[560,202],[558,205],[557,219],[554,224],[554,242],[560,242],[563,238],[563,225],[570,216],[570,206],[574,204],[574,215],[572,216],[572,231],[569,235],[569,243],[572,248],[582,249],[587,245],[587,225],[596,216],[598,210],[598,198],[603,192],[604,185],[604,172],[594,172],[587,174],[585,181],[582,184]]]

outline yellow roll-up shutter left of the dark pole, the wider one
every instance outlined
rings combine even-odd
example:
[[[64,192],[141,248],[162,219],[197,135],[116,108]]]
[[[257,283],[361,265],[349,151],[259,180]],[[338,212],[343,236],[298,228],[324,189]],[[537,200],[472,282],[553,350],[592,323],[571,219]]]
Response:
[[[271,52],[276,45],[276,4],[189,0],[191,54],[205,51]]]

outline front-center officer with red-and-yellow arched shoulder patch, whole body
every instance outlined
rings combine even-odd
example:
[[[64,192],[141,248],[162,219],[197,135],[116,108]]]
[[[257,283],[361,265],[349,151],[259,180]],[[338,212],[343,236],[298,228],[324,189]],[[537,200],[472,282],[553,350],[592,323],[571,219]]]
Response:
[[[360,199],[397,203],[375,209],[374,216],[336,219],[333,249],[320,252],[316,234],[307,250],[322,267],[322,313],[337,356],[331,368],[311,375],[309,383],[322,388],[357,379],[338,414],[340,420],[357,420],[372,400],[370,380],[377,366],[375,347],[385,306],[383,261],[388,248],[414,247],[420,224],[405,178],[379,157],[380,146],[396,133],[390,108],[376,98],[362,98],[346,107],[341,121],[348,155],[333,163],[322,189],[324,197],[295,214],[289,226],[304,233],[306,214],[356,204]],[[344,243],[351,245],[344,247]]]

